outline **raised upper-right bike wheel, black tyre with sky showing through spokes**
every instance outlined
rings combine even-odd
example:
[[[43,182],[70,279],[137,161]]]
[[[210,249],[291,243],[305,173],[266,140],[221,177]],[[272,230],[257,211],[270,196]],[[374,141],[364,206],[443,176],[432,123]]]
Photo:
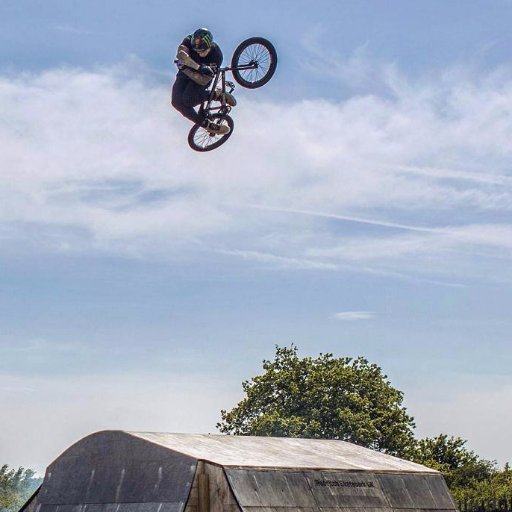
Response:
[[[277,52],[263,37],[251,37],[241,42],[231,59],[235,80],[248,89],[265,85],[276,72]]]

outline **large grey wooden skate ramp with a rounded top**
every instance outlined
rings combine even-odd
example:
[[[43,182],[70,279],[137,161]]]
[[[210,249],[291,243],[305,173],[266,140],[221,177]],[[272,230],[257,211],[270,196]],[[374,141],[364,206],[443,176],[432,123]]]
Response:
[[[443,477],[343,441],[105,431],[23,512],[455,512]]]

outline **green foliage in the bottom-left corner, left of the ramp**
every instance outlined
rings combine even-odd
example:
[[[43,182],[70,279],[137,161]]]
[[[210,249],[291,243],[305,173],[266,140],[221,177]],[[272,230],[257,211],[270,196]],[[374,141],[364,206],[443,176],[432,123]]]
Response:
[[[0,467],[0,512],[16,512],[40,485],[30,469]]]

